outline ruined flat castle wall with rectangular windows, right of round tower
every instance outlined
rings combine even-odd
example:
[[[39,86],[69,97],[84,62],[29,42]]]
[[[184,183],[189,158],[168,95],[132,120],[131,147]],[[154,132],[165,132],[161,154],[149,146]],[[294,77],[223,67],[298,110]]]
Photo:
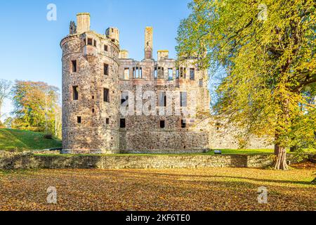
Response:
[[[133,79],[133,67],[143,69],[143,77]],[[121,79],[119,89],[121,92],[130,91],[129,105],[136,108],[134,115],[123,116],[126,119],[126,128],[120,129],[120,148],[122,152],[129,153],[170,153],[170,152],[202,152],[209,148],[209,133],[205,127],[199,127],[199,118],[195,115],[178,115],[176,108],[180,108],[180,91],[187,92],[187,109],[196,104],[196,111],[209,110],[209,91],[207,82],[202,83],[204,71],[199,71],[194,63],[182,65],[187,68],[183,78],[176,77],[176,60],[135,60],[120,59],[119,77]],[[154,79],[154,68],[164,68]],[[129,80],[123,79],[124,70],[129,68]],[[172,68],[173,77],[169,79],[168,69]],[[195,68],[195,79],[190,79],[190,68]],[[143,98],[146,91],[152,91],[158,105],[159,92],[173,92],[175,96],[167,98],[166,107],[157,107],[162,114],[152,112],[151,115],[138,114],[136,96]],[[195,91],[195,96],[191,94]],[[178,96],[177,96],[178,95]],[[147,99],[140,100],[143,105]],[[132,107],[131,106],[131,107]],[[171,109],[171,113],[166,112]],[[170,111],[169,111],[170,112]],[[161,128],[159,122],[164,120],[165,127]],[[181,127],[181,120],[187,121],[187,127]],[[189,123],[193,121],[192,123]]]

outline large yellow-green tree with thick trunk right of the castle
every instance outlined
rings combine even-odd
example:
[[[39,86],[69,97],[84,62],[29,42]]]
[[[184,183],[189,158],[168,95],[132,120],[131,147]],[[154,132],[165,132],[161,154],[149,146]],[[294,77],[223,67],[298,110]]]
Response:
[[[249,135],[273,136],[275,169],[288,168],[287,148],[315,147],[315,5],[195,0],[178,29],[180,57],[225,72],[215,112]]]

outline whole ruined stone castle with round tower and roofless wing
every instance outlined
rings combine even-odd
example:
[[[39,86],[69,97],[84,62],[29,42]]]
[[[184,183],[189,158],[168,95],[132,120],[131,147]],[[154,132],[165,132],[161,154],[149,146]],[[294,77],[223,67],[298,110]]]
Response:
[[[90,14],[62,48],[63,153],[183,153],[209,148],[209,132],[196,111],[209,110],[207,74],[195,59],[153,56],[153,29],[145,28],[144,59],[119,47],[119,30],[90,30]],[[148,94],[152,101],[147,108]],[[122,113],[122,109],[125,113]],[[189,110],[190,109],[190,110]],[[126,113],[126,110],[128,113]],[[187,113],[189,112],[189,113]]]

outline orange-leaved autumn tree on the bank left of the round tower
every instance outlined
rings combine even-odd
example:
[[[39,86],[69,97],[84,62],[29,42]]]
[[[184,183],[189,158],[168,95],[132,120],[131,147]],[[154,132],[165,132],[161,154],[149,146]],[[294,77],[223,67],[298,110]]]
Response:
[[[55,134],[60,114],[58,88],[44,82],[16,81],[12,92],[14,128]]]

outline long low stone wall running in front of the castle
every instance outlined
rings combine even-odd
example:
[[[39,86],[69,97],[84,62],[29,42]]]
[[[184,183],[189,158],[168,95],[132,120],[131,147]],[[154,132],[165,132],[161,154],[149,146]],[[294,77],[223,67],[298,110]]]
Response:
[[[0,169],[268,167],[273,155],[34,155],[0,152]],[[295,160],[289,155],[289,160]]]

